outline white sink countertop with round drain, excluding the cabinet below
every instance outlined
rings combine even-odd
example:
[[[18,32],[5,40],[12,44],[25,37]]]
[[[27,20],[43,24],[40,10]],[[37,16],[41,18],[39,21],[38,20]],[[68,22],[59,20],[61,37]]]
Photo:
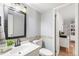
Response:
[[[21,46],[18,47],[13,47],[12,50],[10,50],[9,52],[3,54],[5,56],[24,56],[29,54],[30,52],[32,52],[33,50],[40,48],[38,45],[35,45],[33,43],[26,43],[26,44],[22,44]]]

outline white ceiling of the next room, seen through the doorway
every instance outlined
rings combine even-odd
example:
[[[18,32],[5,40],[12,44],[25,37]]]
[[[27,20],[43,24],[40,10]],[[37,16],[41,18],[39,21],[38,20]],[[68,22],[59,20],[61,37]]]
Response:
[[[75,19],[75,4],[70,4],[66,7],[59,9],[60,14],[64,20]]]

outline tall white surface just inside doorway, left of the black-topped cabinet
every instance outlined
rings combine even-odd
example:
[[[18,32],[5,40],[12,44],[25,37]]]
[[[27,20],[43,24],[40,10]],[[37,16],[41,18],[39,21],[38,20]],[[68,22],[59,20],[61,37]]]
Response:
[[[58,54],[59,54],[59,50],[60,50],[59,32],[60,32],[60,31],[63,31],[62,17],[61,17],[61,15],[59,14],[58,11],[56,11],[55,20],[56,20],[56,55],[58,55]]]

